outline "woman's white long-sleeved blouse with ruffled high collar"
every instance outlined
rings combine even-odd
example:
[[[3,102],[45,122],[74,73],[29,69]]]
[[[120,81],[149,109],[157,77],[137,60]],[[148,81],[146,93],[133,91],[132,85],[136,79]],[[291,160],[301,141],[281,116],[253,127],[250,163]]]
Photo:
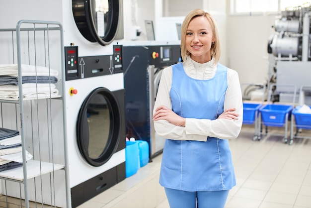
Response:
[[[211,61],[200,64],[187,57],[183,62],[186,74],[194,79],[209,80],[214,77],[217,71],[217,65],[214,64],[214,58]],[[154,121],[156,133],[164,138],[173,140],[196,140],[207,141],[207,137],[217,137],[221,139],[234,139],[238,136],[243,118],[242,94],[236,71],[228,68],[227,74],[228,89],[226,92],[224,110],[234,107],[238,113],[238,120],[229,120],[224,118],[197,119],[186,118],[185,126],[176,126],[166,120]],[[163,69],[154,107],[165,105],[172,108],[170,101],[170,88],[172,84],[172,67]],[[215,86],[217,87],[217,86]],[[191,95],[189,95],[191,96]]]

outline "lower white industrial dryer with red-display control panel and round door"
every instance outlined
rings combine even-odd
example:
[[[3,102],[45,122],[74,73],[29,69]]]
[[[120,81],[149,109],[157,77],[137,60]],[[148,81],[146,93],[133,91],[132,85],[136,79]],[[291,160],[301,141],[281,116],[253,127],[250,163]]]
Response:
[[[78,47],[65,48],[69,181],[76,207],[125,179],[125,90],[122,68],[109,69],[121,66],[121,46],[114,55],[89,57],[78,57]],[[111,58],[112,66],[100,64]]]

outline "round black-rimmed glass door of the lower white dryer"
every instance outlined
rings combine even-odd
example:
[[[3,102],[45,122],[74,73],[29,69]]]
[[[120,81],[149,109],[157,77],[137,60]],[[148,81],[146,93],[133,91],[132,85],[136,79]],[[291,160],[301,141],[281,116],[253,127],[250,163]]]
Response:
[[[97,88],[84,100],[77,121],[78,148],[85,161],[101,166],[119,144],[120,110],[116,97],[106,88]]]

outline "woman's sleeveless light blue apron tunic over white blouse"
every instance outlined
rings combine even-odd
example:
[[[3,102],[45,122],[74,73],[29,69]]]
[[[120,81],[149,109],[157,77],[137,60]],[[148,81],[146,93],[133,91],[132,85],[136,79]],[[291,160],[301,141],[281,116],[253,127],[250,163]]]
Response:
[[[196,80],[186,75],[182,63],[172,65],[172,110],[184,118],[215,120],[224,111],[227,71],[227,67],[218,64],[212,79]],[[236,182],[228,140],[166,139],[159,183],[189,192],[232,189]]]

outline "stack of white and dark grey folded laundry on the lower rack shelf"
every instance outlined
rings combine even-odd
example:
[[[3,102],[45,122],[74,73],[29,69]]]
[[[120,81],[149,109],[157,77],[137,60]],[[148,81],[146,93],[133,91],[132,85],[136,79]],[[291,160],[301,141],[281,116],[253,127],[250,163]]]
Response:
[[[32,155],[26,151],[26,160]],[[17,130],[0,128],[0,171],[22,166],[21,136]]]

